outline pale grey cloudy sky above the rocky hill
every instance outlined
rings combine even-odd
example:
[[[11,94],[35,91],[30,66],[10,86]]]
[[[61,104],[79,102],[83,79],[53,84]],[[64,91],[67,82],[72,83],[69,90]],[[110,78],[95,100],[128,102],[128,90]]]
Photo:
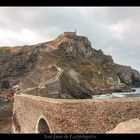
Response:
[[[140,7],[0,7],[0,46],[42,43],[75,29],[115,63],[140,71]]]

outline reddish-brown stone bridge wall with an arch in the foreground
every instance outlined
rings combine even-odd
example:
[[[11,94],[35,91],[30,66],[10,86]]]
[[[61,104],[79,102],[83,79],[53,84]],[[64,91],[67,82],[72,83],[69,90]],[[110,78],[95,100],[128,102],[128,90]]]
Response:
[[[13,132],[47,128],[48,133],[105,133],[122,121],[140,118],[140,98],[73,100],[19,94],[14,96],[13,115]]]

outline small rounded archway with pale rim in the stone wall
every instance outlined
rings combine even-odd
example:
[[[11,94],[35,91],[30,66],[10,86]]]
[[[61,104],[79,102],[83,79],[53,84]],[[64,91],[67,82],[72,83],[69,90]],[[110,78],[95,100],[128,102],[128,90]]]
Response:
[[[51,133],[48,121],[44,116],[40,116],[37,120],[36,133]]]

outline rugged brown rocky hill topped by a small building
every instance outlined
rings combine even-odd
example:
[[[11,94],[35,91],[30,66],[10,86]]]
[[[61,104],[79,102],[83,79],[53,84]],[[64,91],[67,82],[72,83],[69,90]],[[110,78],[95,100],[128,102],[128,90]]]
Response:
[[[87,37],[60,35],[37,45],[1,47],[0,89],[3,92],[38,87],[57,74],[52,65],[63,69],[59,77],[61,98],[91,98],[101,91],[140,86],[137,70],[115,64]]]

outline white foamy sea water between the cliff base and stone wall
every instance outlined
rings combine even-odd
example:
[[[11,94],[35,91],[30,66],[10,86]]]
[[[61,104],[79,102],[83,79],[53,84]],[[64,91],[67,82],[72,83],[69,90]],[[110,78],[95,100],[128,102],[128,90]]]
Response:
[[[93,99],[111,99],[111,98],[122,98],[122,97],[140,97],[140,88],[134,88],[135,92],[114,92],[112,94],[102,94],[102,95],[93,95]]]

